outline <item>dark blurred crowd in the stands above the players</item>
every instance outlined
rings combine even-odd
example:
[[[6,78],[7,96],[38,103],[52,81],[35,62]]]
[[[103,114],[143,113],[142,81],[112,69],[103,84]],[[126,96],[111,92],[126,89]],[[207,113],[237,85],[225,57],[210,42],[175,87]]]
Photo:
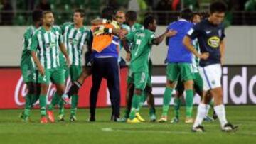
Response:
[[[139,21],[145,13],[158,18],[159,25],[175,21],[178,11],[190,8],[207,12],[214,0],[0,0],[0,24],[3,26],[23,26],[31,24],[33,9],[51,10],[55,13],[55,23],[72,21],[73,10],[86,11],[85,24],[100,16],[105,6],[116,10],[137,11]],[[225,23],[227,25],[256,25],[256,0],[222,0],[228,5]]]

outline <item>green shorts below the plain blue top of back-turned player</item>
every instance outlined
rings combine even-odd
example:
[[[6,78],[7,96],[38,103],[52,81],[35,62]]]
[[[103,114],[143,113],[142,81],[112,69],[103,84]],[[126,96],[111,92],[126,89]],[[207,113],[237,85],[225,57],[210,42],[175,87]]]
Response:
[[[167,79],[176,82],[181,76],[181,81],[186,82],[193,80],[193,72],[191,70],[191,63],[169,63],[166,67]]]

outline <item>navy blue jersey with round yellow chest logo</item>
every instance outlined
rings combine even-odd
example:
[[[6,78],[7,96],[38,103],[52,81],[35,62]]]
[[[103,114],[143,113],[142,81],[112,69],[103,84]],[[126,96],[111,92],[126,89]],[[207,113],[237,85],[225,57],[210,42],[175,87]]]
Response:
[[[193,26],[187,35],[191,39],[198,38],[202,53],[209,52],[207,60],[200,60],[201,67],[220,63],[220,43],[225,38],[223,23],[213,25],[205,19]]]

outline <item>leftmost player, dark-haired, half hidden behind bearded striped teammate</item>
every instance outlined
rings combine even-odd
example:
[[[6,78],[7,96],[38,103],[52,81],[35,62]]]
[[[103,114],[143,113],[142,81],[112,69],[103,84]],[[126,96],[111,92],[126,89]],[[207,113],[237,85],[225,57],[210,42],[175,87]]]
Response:
[[[25,98],[25,108],[21,113],[22,121],[27,122],[31,113],[33,104],[37,101],[38,97],[38,84],[36,84],[36,67],[31,57],[30,45],[33,34],[36,29],[41,26],[43,11],[35,10],[32,12],[33,25],[26,29],[23,35],[23,48],[21,55],[21,72],[23,81],[26,83],[28,93]]]

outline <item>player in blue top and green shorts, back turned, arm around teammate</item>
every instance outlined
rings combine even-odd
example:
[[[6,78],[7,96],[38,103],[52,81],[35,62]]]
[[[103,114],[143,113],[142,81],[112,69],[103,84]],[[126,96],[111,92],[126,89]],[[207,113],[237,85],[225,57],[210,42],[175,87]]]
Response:
[[[192,54],[186,50],[182,40],[189,29],[193,26],[191,20],[192,11],[184,9],[181,11],[178,21],[171,23],[167,29],[176,31],[176,35],[169,38],[168,65],[166,67],[167,84],[164,91],[163,112],[159,122],[167,121],[167,113],[171,101],[171,94],[176,87],[178,77],[184,84],[186,90],[186,120],[185,123],[193,123],[193,72],[191,70]]]

